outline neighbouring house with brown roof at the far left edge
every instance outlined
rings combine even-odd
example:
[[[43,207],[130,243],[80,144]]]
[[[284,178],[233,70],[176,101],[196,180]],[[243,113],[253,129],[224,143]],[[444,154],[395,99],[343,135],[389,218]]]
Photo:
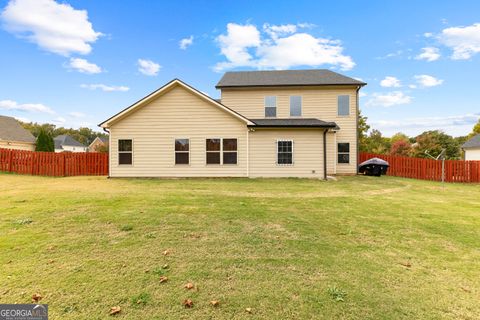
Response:
[[[15,118],[0,116],[0,148],[35,151],[35,137]]]

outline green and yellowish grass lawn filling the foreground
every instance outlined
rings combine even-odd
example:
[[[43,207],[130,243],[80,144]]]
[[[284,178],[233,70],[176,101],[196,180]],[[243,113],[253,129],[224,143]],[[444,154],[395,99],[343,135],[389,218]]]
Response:
[[[480,186],[1,174],[0,252],[51,319],[479,319]]]

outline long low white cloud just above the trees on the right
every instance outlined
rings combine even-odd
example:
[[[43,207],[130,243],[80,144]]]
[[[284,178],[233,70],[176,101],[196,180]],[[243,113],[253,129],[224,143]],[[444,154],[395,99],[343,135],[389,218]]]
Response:
[[[394,134],[398,131],[407,134],[419,134],[426,130],[444,130],[453,135],[465,135],[480,119],[480,113],[467,113],[443,117],[417,117],[397,120],[377,120],[370,124],[386,134]]]

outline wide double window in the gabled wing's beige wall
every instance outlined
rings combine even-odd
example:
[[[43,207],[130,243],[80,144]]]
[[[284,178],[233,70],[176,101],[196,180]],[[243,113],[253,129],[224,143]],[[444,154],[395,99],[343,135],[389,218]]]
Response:
[[[237,164],[237,139],[207,139],[207,164]]]

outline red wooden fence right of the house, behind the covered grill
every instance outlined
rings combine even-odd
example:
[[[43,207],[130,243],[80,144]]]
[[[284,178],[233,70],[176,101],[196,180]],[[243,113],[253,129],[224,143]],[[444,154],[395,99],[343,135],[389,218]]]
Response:
[[[360,163],[380,158],[388,161],[387,175],[422,180],[442,181],[442,161],[423,158],[360,153]],[[446,182],[480,182],[480,161],[445,160]]]

